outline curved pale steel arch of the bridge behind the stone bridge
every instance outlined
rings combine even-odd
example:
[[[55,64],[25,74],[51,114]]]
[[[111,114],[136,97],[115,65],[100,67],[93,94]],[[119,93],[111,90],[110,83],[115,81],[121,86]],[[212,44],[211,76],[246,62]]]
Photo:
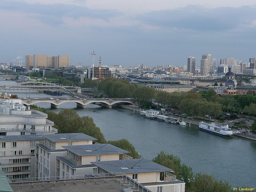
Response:
[[[5,77],[2,77],[2,78],[5,78]],[[38,86],[39,85],[39,86]],[[69,89],[66,89],[65,87],[62,87],[60,85],[56,85],[56,84],[53,84],[53,83],[47,83],[47,82],[40,82],[40,81],[37,81],[37,82],[21,82],[21,83],[17,83],[17,84],[12,84],[12,85],[9,85],[7,87],[4,87],[4,88],[1,88],[0,91],[3,91],[3,90],[8,90],[10,88],[15,88],[15,87],[21,87],[22,86],[24,87],[33,87],[33,86],[37,86],[38,89],[36,90],[40,90],[40,86],[43,88],[43,87],[47,87],[47,88],[58,88],[62,91],[66,91],[66,92],[69,92],[70,94],[72,94],[73,96],[76,96],[76,93],[75,92],[72,92],[70,91]],[[42,89],[44,90],[44,89]],[[45,90],[49,90],[49,89],[45,89]]]

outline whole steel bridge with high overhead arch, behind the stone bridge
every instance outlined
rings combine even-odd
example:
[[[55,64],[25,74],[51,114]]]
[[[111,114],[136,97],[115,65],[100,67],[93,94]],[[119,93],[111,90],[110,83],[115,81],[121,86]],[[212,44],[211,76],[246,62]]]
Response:
[[[12,84],[8,86],[0,86],[0,92],[9,91],[57,91],[63,94],[76,96],[81,93],[80,87],[73,86],[60,86],[53,83],[47,82],[22,82],[17,84]]]

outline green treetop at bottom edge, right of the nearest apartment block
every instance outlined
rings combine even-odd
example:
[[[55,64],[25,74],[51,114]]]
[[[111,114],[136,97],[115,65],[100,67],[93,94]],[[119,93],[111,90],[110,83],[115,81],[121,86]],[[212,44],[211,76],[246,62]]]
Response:
[[[212,175],[204,173],[195,174],[194,181],[191,182],[190,188],[186,192],[231,192],[231,185],[227,181],[216,180]]]

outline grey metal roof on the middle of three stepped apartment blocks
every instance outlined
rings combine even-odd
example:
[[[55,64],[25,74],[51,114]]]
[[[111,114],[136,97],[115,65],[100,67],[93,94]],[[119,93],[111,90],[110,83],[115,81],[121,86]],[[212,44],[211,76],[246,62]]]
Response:
[[[78,156],[129,153],[111,144],[62,146]]]

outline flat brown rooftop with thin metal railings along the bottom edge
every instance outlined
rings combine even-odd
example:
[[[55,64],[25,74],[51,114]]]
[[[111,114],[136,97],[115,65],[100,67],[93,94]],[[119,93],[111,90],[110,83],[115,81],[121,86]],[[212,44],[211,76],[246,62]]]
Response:
[[[121,179],[121,178],[116,178]],[[86,184],[85,184],[86,181]],[[96,181],[96,183],[95,183]],[[105,179],[106,182],[104,182],[103,179],[90,179],[90,180],[76,180],[76,185],[74,184],[74,180],[66,181],[66,185],[64,181],[55,182],[44,182],[43,183],[23,183],[23,188],[21,188],[21,184],[12,184],[12,190],[13,192],[70,192],[70,191],[90,191],[90,192],[120,192],[123,191],[124,188],[123,183],[115,182],[114,178]],[[124,180],[125,181],[125,180]],[[129,183],[126,183],[129,184]],[[132,186],[133,187],[133,186]],[[125,186],[127,188],[127,186]],[[138,186],[135,186],[133,188],[135,190],[138,189]],[[146,190],[143,190],[139,188],[139,192],[146,192]]]

